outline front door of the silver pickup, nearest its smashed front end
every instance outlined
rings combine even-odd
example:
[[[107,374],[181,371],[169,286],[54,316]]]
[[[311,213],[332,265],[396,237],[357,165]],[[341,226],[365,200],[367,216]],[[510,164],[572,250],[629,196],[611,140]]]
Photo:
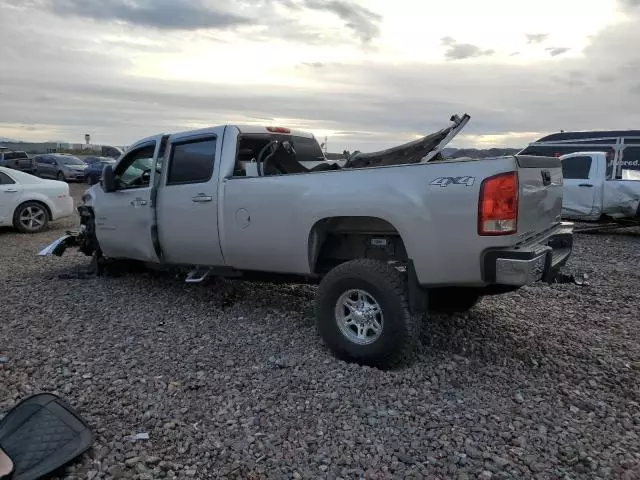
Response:
[[[106,257],[159,263],[153,245],[152,185],[162,135],[147,139],[122,157],[114,169],[118,189],[96,198],[96,236]],[[154,168],[155,167],[155,168]]]

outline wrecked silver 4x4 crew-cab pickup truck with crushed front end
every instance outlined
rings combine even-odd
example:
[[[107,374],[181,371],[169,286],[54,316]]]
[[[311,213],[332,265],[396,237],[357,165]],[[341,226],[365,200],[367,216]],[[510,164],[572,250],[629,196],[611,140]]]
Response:
[[[389,367],[411,357],[429,311],[550,278],[569,258],[557,158],[447,160],[467,123],[326,161],[313,135],[223,125],[136,142],[78,207],[69,246],[208,275],[319,283],[316,321],[338,357]]]

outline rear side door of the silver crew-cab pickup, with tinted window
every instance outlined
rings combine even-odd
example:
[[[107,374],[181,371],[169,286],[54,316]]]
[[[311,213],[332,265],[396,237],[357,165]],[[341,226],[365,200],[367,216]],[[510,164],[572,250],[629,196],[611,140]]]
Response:
[[[158,237],[168,263],[222,266],[218,168],[223,130],[174,137],[157,197]]]

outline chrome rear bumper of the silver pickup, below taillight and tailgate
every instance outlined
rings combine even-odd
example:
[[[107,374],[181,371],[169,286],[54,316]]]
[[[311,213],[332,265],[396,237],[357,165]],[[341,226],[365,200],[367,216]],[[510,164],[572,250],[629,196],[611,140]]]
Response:
[[[550,232],[512,248],[484,252],[483,281],[493,285],[523,286],[550,281],[573,251],[573,224],[563,222]]]

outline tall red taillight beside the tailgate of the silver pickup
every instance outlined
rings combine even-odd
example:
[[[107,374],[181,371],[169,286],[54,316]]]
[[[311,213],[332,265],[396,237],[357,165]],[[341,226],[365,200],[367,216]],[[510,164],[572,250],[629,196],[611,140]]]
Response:
[[[480,186],[479,235],[509,235],[518,230],[518,174],[501,173]]]

